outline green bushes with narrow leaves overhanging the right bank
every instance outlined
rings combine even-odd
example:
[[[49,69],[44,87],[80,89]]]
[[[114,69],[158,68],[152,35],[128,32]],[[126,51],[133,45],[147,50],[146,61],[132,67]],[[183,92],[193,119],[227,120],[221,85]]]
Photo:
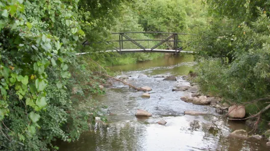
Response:
[[[209,0],[209,4],[214,19],[196,41],[198,55],[205,58],[197,57],[202,90],[235,103],[269,97],[269,2]],[[249,104],[247,112],[257,113],[266,102]],[[263,117],[270,119],[269,113]]]

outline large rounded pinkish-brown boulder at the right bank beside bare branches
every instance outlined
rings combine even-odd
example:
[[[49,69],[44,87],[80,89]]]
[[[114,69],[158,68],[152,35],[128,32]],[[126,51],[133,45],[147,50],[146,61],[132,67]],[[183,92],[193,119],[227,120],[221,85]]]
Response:
[[[229,108],[228,116],[230,118],[244,118],[245,117],[245,106],[233,105]]]

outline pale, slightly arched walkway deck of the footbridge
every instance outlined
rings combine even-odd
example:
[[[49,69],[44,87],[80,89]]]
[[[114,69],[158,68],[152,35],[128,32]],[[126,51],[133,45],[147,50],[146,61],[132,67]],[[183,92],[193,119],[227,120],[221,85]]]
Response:
[[[150,51],[150,49],[122,49],[121,51],[116,50],[106,50],[106,51],[99,51],[98,53],[102,52],[121,52],[121,53],[175,53],[175,50],[166,50],[166,49],[153,49]],[[192,51],[177,51],[177,53],[194,53]],[[76,55],[83,55],[88,53],[77,53]]]

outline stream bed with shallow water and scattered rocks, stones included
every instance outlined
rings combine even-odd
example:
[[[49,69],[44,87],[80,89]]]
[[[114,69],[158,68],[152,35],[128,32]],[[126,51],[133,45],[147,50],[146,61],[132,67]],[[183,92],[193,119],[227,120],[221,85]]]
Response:
[[[84,133],[80,140],[59,143],[61,151],[269,150],[267,141],[258,140],[258,135],[252,138],[247,135],[246,138],[231,134],[251,129],[245,122],[224,118],[230,106],[223,105],[221,98],[201,94],[196,83],[190,83],[184,76],[173,74],[175,78],[170,77],[175,68],[181,69],[177,73],[182,74],[184,67],[190,64],[181,61],[158,67],[154,64],[155,67],[132,69],[123,72],[122,77],[117,76],[138,88],[146,88],[146,91],[133,90],[119,81],[104,85],[106,94],[95,99],[108,107],[103,109],[108,123],[97,121],[95,125],[89,125],[89,132]],[[167,77],[170,80],[165,80]],[[205,105],[197,105],[198,102]],[[214,108],[218,105],[222,114]],[[245,136],[245,132],[241,135]]]

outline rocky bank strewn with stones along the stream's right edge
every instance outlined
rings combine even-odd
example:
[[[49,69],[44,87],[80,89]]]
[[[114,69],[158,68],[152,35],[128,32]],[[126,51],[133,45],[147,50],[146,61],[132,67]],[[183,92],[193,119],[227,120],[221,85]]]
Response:
[[[197,81],[196,74],[191,73],[187,76],[183,76],[184,79],[190,82],[191,86],[195,87],[196,91],[192,91],[192,97],[183,96],[181,99],[185,102],[191,102],[193,104],[198,105],[210,105],[213,108],[216,108],[216,113],[223,114],[225,118],[229,118],[229,120],[241,120],[245,122],[245,125],[249,126],[252,130],[250,132],[246,132],[245,130],[241,130],[242,132],[233,134],[235,136],[241,136],[249,139],[257,139],[257,140],[266,140],[267,146],[270,146],[270,130],[269,123],[260,123],[260,118],[256,118],[256,116],[249,118],[250,113],[246,112],[245,105],[237,105],[232,101],[228,101],[221,96],[214,96],[208,94],[207,92],[202,92],[199,89],[199,86],[195,83]],[[192,87],[186,87],[179,85],[177,88],[180,88],[180,91],[183,91],[185,88],[193,89]],[[184,88],[184,89],[183,89]],[[187,89],[187,90],[188,90]],[[260,125],[260,127],[258,127]],[[262,126],[263,125],[263,126]],[[244,132],[244,135],[243,135]],[[253,134],[255,133],[255,134]],[[248,135],[253,134],[253,135]]]

